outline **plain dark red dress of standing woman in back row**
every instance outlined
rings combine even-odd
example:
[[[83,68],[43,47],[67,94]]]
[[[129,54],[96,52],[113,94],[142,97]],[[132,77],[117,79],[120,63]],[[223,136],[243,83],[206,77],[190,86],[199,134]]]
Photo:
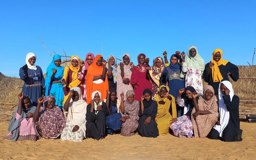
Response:
[[[140,72],[133,69],[130,83],[134,86],[135,97],[134,99],[140,101],[140,97],[143,95],[144,89],[150,89],[152,92],[152,84],[146,75],[147,72]]]

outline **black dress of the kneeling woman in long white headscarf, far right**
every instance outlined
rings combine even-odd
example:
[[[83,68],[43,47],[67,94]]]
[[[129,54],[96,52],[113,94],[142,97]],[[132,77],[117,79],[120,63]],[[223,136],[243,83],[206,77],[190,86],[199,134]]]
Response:
[[[226,142],[242,141],[242,130],[240,129],[239,120],[239,97],[234,95],[231,102],[229,95],[223,95],[223,100],[229,111],[229,122],[222,132],[222,137],[220,137],[219,132],[213,128],[211,139],[219,139]]]

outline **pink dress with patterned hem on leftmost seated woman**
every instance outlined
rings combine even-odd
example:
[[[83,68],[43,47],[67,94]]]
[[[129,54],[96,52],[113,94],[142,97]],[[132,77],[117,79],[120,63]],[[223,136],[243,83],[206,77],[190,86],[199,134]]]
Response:
[[[16,113],[15,119],[18,120],[20,118],[20,115]],[[5,139],[12,140],[12,134],[11,132],[4,137]],[[33,117],[28,119],[24,118],[20,122],[19,127],[19,137],[17,140],[37,140],[36,131],[33,127]]]

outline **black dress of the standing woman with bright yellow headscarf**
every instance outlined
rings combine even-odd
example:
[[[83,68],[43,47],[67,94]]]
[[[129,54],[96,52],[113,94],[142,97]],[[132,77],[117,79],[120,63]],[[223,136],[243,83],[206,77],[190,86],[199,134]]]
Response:
[[[208,85],[212,86],[214,89],[214,94],[219,95],[219,84],[220,82],[213,82],[212,79],[212,71],[210,71],[210,74],[208,76],[207,70],[209,68],[210,63],[207,63],[204,68],[204,73],[203,73],[203,78],[204,81],[208,83]],[[220,74],[223,77],[223,80],[229,81],[228,73],[230,72],[231,74],[229,75],[235,82],[239,79],[239,71],[238,67],[230,62],[228,62],[226,65],[219,65],[219,70]]]

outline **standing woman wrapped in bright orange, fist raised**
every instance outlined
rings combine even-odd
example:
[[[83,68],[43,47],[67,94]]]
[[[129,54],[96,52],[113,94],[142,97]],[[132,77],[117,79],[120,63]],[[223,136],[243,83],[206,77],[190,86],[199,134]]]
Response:
[[[106,61],[101,55],[95,57],[94,62],[89,65],[86,74],[86,92],[87,92],[87,103],[92,101],[92,92],[101,92],[101,101],[107,97],[106,90],[108,89],[108,78],[106,70]]]

